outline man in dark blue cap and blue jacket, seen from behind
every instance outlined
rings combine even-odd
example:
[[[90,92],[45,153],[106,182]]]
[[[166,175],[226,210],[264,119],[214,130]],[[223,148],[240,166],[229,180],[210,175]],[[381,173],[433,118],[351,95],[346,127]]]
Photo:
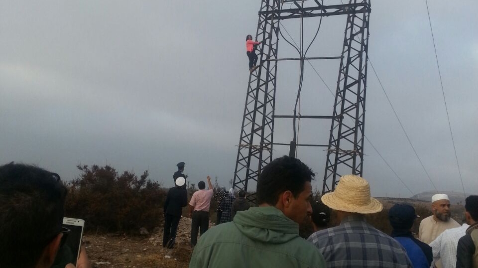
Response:
[[[432,248],[416,239],[410,231],[417,218],[415,208],[408,204],[395,204],[388,211],[388,219],[393,227],[391,237],[398,241],[414,268],[429,268],[432,259]]]

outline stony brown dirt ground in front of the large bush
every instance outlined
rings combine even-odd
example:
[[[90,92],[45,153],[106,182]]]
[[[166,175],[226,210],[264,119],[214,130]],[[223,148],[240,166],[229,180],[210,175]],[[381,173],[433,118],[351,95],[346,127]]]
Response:
[[[174,249],[163,248],[162,226],[143,237],[86,234],[83,242],[93,268],[187,268],[190,230],[191,219],[182,218]]]

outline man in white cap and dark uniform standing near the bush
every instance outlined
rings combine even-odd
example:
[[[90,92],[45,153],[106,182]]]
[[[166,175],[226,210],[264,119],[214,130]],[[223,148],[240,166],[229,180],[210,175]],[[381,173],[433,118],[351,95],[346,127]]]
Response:
[[[163,247],[172,249],[176,242],[179,220],[183,214],[183,207],[188,205],[188,193],[184,186],[186,179],[178,177],[176,186],[169,189],[168,196],[164,202],[164,232]]]

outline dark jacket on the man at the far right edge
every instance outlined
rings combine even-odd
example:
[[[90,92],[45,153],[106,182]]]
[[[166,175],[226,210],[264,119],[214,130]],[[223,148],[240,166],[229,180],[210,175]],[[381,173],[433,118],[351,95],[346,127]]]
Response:
[[[457,268],[478,267],[478,223],[468,227],[457,246]]]

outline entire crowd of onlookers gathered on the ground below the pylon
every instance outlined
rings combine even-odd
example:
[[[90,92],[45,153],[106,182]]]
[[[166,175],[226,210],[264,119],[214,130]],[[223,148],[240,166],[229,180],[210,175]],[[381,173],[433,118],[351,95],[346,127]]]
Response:
[[[178,163],[175,186],[164,204],[163,247],[175,247],[182,210],[188,206],[190,268],[478,268],[478,195],[466,198],[466,223],[460,226],[451,218],[448,196],[435,194],[433,215],[420,222],[416,238],[411,229],[418,216],[410,204],[389,209],[390,235],[367,223],[365,215],[383,205],[357,175],[342,176],[335,191],[314,201],[314,172],[299,159],[283,156],[261,171],[258,206],[251,207],[245,192],[214,189],[209,176],[208,189],[200,181],[188,203],[183,171],[184,162]],[[56,173],[25,164],[0,166],[1,268],[52,267],[64,235],[66,194]],[[217,226],[208,230],[213,198],[219,216]],[[337,226],[329,226],[332,211]],[[299,232],[304,223],[310,228]],[[84,247],[76,267],[91,267]]]

